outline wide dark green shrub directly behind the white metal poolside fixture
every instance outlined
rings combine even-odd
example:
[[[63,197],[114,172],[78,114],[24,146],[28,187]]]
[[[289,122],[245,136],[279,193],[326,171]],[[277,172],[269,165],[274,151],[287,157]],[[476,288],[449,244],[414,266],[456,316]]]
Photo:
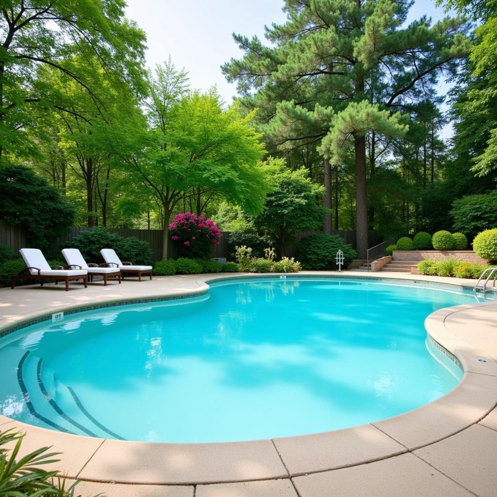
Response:
[[[343,266],[347,267],[356,252],[341,237],[335,235],[311,235],[300,241],[298,260],[304,269],[336,270],[336,252],[343,251]]]

